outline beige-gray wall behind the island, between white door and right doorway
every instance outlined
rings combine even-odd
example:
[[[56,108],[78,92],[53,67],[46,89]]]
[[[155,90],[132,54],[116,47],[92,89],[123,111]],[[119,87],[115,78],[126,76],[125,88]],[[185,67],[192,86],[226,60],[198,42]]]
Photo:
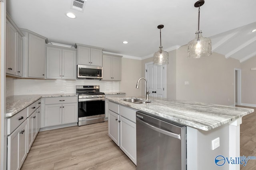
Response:
[[[236,59],[218,53],[189,59],[186,45],[180,47],[176,57],[176,99],[234,105],[234,68],[240,68]],[[184,85],[185,81],[189,85]]]

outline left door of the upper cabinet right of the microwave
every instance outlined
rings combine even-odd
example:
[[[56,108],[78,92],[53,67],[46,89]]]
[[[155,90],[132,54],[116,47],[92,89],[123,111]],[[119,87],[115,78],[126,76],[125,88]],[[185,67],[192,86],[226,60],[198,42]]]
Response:
[[[102,80],[112,80],[112,57],[103,55]]]

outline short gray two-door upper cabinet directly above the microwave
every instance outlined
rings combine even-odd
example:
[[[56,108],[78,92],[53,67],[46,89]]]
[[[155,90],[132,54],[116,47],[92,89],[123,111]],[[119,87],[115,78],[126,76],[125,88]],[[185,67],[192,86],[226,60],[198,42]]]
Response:
[[[76,44],[77,62],[82,65],[102,66],[102,48]]]

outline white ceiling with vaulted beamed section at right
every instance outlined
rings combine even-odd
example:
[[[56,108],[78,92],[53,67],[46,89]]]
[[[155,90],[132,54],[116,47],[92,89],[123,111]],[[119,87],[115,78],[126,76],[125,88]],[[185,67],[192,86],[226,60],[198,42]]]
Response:
[[[49,42],[104,48],[126,57],[152,57],[160,45],[163,24],[166,50],[194,39],[196,0],[87,0],[84,12],[70,9],[71,0],[6,0],[6,10],[20,28]],[[200,29],[212,39],[212,51],[240,60],[256,55],[256,0],[205,0]],[[66,17],[73,12],[75,19]],[[245,26],[244,26],[245,25]],[[128,41],[123,44],[122,41]]]

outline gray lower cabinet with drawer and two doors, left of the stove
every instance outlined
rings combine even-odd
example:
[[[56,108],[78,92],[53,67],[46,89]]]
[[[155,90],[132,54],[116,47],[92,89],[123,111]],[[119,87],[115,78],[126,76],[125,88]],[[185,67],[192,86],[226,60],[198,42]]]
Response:
[[[77,102],[77,96],[45,98],[44,127],[76,123]]]

